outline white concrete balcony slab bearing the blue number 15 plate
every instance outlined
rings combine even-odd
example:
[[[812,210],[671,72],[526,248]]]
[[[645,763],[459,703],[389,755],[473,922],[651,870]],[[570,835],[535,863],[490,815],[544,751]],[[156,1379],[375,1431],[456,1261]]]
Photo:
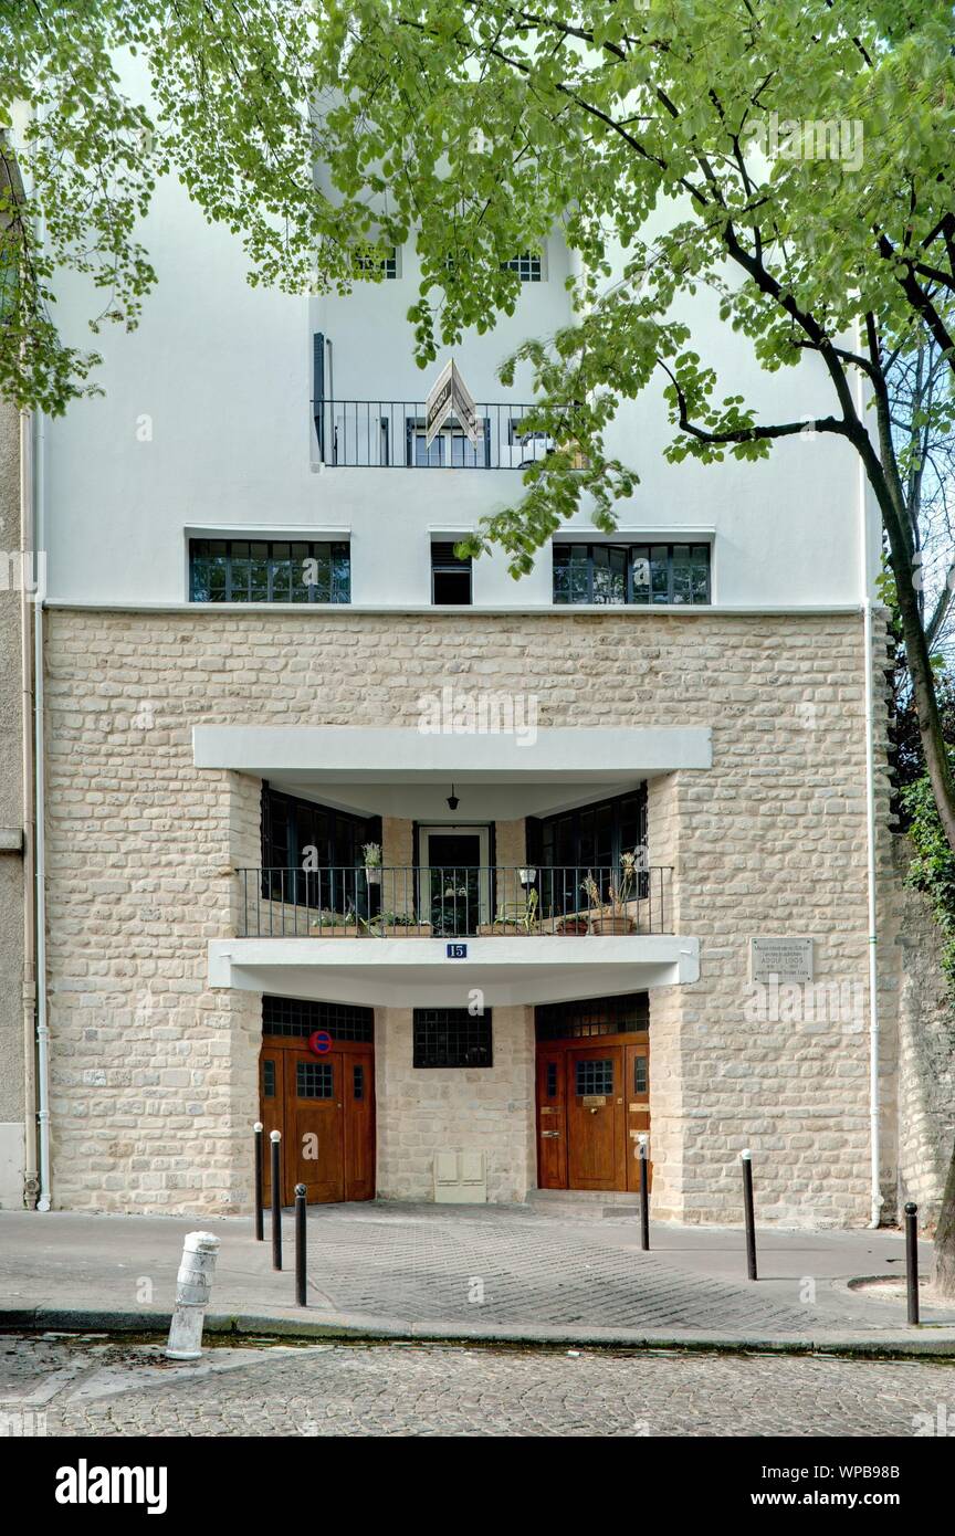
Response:
[[[213,938],[209,985],[385,1008],[559,1003],[697,982],[700,946],[674,934],[467,938]]]

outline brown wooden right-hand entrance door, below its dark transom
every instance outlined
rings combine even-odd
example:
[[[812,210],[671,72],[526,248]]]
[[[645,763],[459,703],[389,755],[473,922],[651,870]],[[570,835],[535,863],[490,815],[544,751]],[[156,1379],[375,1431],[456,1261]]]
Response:
[[[649,1132],[645,1031],[537,1046],[539,1189],[639,1190],[642,1130]]]

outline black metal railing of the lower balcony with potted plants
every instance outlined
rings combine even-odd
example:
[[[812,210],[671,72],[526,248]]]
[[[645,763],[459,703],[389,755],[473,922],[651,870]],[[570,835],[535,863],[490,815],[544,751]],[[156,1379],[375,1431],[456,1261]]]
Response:
[[[240,869],[240,938],[668,934],[672,869]]]

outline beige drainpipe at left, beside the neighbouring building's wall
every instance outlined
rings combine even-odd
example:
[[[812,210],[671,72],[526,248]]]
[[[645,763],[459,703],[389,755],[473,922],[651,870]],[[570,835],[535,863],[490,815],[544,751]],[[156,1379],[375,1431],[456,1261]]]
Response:
[[[37,1178],[37,962],[34,908],[34,671],[26,571],[34,570],[34,422],[20,412],[20,687],[23,793],[23,1203],[35,1204]]]

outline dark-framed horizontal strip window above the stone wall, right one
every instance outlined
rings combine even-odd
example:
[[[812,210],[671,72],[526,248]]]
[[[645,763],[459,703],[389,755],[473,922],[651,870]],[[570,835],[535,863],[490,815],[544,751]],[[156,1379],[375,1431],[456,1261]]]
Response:
[[[708,544],[554,544],[557,604],[708,604]]]

